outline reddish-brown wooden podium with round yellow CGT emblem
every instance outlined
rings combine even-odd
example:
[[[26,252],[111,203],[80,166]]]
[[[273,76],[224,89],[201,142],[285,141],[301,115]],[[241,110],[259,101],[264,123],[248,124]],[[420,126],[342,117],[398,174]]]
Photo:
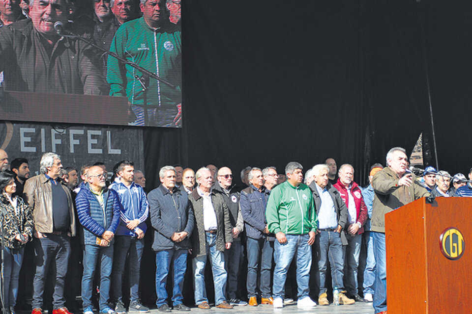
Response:
[[[472,198],[391,211],[385,241],[388,314],[472,313]]]

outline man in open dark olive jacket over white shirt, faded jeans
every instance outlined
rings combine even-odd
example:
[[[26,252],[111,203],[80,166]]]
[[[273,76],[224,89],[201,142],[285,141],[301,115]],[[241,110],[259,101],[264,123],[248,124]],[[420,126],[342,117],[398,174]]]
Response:
[[[209,255],[216,307],[232,309],[233,306],[228,304],[225,298],[227,273],[224,252],[231,248],[233,242],[229,209],[223,196],[211,190],[213,176],[208,168],[200,168],[195,177],[198,186],[188,195],[195,213],[192,234],[195,303],[200,309],[210,308],[205,289],[205,265]]]

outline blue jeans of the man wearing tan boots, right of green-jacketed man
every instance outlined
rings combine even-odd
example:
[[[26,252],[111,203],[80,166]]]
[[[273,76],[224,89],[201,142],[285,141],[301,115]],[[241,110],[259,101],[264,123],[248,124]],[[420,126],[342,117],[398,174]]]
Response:
[[[331,266],[331,278],[333,289],[337,287],[339,289],[344,288],[343,283],[343,244],[341,242],[341,235],[334,231],[321,231],[320,234],[316,236],[317,241],[315,241],[315,248],[319,250],[320,254],[318,255],[318,272],[319,277],[317,277],[317,286],[320,288],[318,295],[326,292],[326,268],[329,258],[329,265]]]

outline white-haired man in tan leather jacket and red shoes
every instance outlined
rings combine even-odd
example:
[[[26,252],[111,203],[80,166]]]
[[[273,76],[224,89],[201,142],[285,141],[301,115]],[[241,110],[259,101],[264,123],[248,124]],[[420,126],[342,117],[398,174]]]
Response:
[[[38,1],[38,0],[36,0]],[[59,180],[62,163],[54,153],[45,153],[40,175],[25,183],[24,195],[33,209],[36,274],[33,279],[31,314],[42,314],[44,286],[49,267],[56,271],[53,314],[70,314],[65,307],[64,279],[70,256],[70,236],[75,235],[75,214],[67,183]],[[55,263],[55,266],[52,263]]]

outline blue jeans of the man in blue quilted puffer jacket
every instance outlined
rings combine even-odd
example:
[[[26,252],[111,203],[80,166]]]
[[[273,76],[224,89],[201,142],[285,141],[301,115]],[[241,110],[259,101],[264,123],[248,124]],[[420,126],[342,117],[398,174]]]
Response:
[[[100,270],[100,310],[108,307],[110,298],[110,277],[113,264],[113,245],[98,246],[84,245],[84,274],[82,276],[82,305],[83,308],[92,307],[92,289],[95,269]],[[99,263],[97,263],[97,261]]]

